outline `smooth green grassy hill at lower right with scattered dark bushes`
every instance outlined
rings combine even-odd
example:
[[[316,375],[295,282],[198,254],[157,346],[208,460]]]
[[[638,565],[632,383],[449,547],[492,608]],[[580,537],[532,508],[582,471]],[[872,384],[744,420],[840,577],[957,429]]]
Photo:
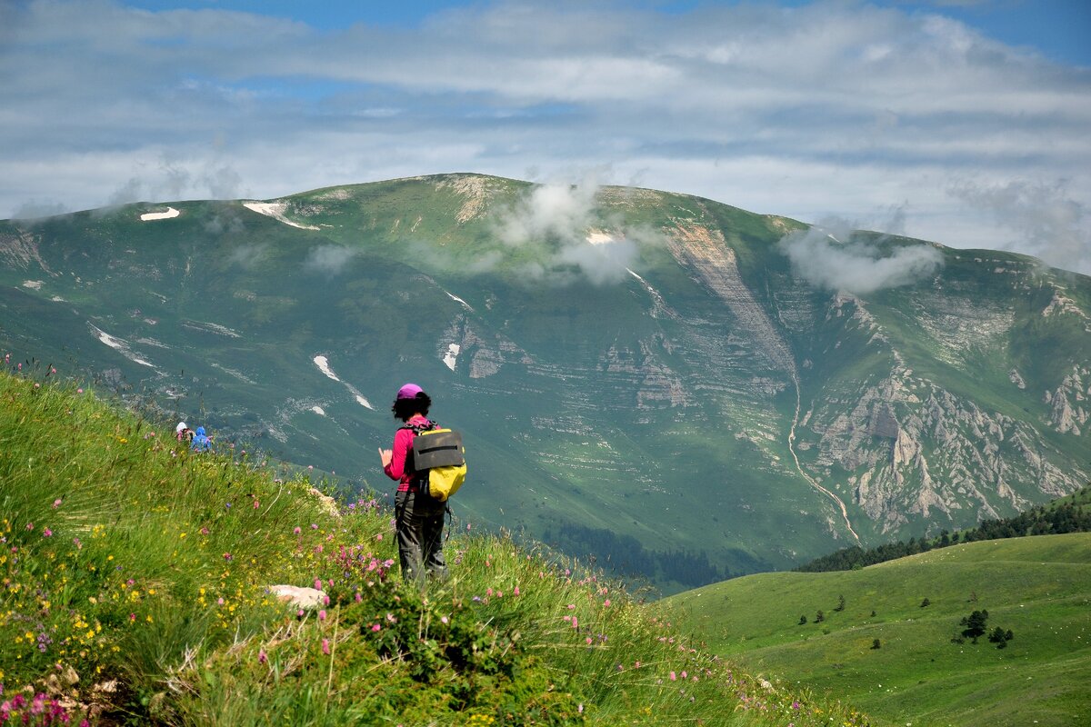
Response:
[[[668,605],[710,651],[841,694],[890,724],[1071,725],[1086,715],[1089,533],[970,543],[856,571],[751,575]],[[1007,649],[950,641],[981,608],[990,630],[1014,631]],[[819,609],[826,620],[815,623]]]

